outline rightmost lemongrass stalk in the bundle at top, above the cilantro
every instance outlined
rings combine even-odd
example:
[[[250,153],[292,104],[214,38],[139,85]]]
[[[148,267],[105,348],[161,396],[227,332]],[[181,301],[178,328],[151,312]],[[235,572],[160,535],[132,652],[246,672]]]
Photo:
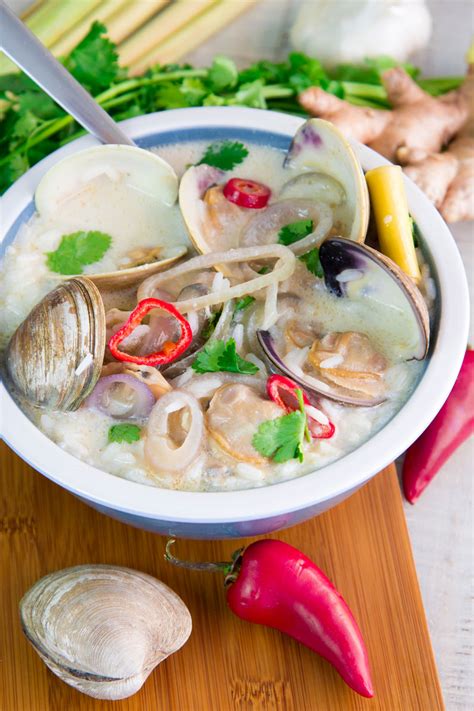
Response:
[[[130,74],[144,72],[156,63],[176,62],[205,42],[225,25],[249,10],[257,0],[220,0],[130,66]]]

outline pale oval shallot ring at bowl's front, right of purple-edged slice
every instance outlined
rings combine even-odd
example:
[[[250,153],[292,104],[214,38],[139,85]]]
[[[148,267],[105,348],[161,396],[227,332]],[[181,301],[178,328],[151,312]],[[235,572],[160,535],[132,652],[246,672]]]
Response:
[[[182,445],[173,445],[168,434],[168,418],[172,412],[187,408],[191,424]],[[183,390],[163,395],[151,411],[145,440],[145,459],[156,472],[180,472],[198,456],[204,434],[204,418],[196,398]]]

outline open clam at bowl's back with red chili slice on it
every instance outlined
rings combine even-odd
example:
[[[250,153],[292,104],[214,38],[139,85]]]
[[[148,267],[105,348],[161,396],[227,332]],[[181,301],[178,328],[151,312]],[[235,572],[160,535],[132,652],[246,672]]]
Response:
[[[188,168],[179,204],[191,241],[201,254],[273,244],[288,224],[311,220],[313,232],[289,245],[295,254],[319,246],[330,230],[363,242],[369,198],[362,168],[332,124],[310,119],[296,133],[285,158],[288,179],[270,204],[238,207],[223,194],[226,175],[205,164]],[[218,265],[226,276],[244,277],[243,267]]]

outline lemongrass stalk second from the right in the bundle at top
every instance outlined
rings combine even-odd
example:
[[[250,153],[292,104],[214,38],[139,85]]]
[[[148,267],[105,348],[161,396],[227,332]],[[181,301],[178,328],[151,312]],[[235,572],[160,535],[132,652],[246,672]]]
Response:
[[[217,0],[175,0],[120,45],[120,64],[128,67],[137,62],[216,2]]]

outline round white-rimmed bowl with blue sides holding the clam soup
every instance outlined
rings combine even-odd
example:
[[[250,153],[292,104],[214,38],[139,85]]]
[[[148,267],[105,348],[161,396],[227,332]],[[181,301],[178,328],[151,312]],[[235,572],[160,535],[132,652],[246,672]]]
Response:
[[[180,139],[230,137],[283,149],[301,123],[301,119],[269,111],[197,108],[138,117],[122,127],[144,147]],[[32,214],[33,194],[45,171],[64,156],[95,143],[87,136],[56,151],[7,192],[2,216],[4,248]],[[365,146],[356,145],[355,150],[366,170],[387,163]],[[382,430],[352,453],[317,472],[259,489],[215,493],[158,489],[120,479],[67,454],[30,422],[2,384],[4,439],[31,466],[96,509],[163,534],[188,538],[257,535],[292,526],[339,503],[406,450],[427,427],[453,386],[466,348],[468,289],[456,244],[439,213],[405,180],[410,211],[434,266],[439,323],[416,390]]]

